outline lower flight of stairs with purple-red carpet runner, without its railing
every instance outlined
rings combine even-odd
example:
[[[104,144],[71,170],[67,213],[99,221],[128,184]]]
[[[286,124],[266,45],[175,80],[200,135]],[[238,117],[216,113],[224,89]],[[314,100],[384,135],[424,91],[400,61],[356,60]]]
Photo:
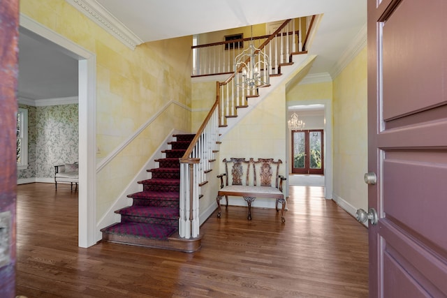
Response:
[[[161,151],[158,168],[147,170],[150,179],[138,181],[143,190],[127,195],[132,206],[116,210],[121,222],[101,229],[103,241],[191,252],[200,248],[200,239],[178,236],[180,163],[195,135],[173,135],[171,149]]]

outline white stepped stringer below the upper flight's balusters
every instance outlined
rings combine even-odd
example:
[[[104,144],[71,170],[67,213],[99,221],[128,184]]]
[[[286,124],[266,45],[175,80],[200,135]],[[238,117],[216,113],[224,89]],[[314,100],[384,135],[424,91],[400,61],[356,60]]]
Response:
[[[227,126],[220,127],[219,133],[221,135],[226,135],[228,131],[231,131],[235,125],[241,121],[249,112],[254,110],[256,105],[261,103],[265,98],[268,97],[274,89],[279,87],[281,84],[290,81],[295,75],[298,75],[302,70],[307,69],[307,65],[312,64],[316,55],[309,54],[296,54],[292,56],[292,65],[281,66],[281,75],[270,77],[270,87],[263,87],[258,89],[258,97],[253,97],[248,99],[248,107],[237,109],[237,117],[231,117],[226,119]]]

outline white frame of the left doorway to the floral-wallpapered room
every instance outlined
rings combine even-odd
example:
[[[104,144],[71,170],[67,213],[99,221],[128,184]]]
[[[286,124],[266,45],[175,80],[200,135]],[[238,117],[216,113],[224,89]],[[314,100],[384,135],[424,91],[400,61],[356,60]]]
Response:
[[[78,246],[96,243],[96,54],[20,13],[20,27],[79,61]]]

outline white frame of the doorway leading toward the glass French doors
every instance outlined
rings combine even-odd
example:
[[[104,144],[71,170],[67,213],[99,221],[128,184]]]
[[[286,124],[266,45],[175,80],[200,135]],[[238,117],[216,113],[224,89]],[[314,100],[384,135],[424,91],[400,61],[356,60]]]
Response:
[[[287,102],[286,119],[288,119],[288,107],[293,105],[324,105],[324,197],[328,200],[332,200],[332,101],[330,99],[316,99],[316,100],[291,100]],[[286,124],[286,142],[290,144],[291,134],[289,133]],[[291,148],[286,146],[287,160],[291,161]],[[288,171],[287,171],[288,172]],[[287,174],[288,178],[288,174]],[[289,179],[287,179],[288,181]],[[288,185],[288,183],[287,183]]]

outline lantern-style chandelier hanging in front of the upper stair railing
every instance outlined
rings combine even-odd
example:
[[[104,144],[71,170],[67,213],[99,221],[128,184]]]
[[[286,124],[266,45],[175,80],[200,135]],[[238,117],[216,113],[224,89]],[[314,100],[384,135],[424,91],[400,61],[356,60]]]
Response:
[[[235,57],[234,69],[236,87],[257,89],[269,86],[270,68],[268,61],[268,55],[254,46],[253,26],[251,26],[251,40],[249,47]]]

